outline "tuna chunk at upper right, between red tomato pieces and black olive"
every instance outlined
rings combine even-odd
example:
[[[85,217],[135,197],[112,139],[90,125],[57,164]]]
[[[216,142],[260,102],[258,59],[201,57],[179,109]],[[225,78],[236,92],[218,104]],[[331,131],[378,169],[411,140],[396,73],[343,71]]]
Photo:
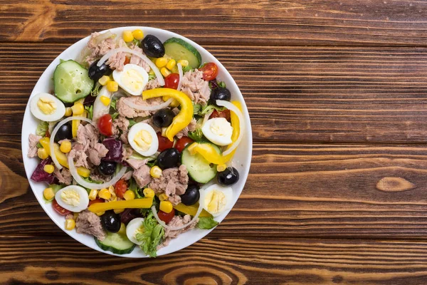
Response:
[[[182,77],[181,91],[186,93],[194,103],[206,105],[211,95],[209,82],[203,79],[203,72],[194,69],[194,71],[187,71]]]

